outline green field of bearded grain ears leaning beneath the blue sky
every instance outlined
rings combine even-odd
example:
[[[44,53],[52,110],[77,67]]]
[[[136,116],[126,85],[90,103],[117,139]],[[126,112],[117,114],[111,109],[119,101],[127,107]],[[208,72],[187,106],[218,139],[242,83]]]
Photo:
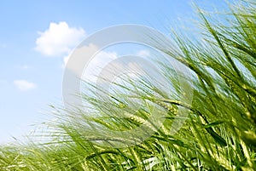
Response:
[[[90,110],[53,105],[55,122],[44,123],[49,130],[42,135],[49,141],[1,146],[0,170],[256,170],[255,9],[253,1],[230,4],[230,11],[218,14],[217,20],[217,14],[195,8],[200,18],[198,39],[174,31],[178,49],[158,47],[188,67],[192,77],[178,76],[158,60],[172,93],[146,79],[134,83],[124,77],[125,87],[117,84],[116,91],[99,100],[92,91],[97,87],[84,83],[86,91],[91,90],[82,97]],[[154,35],[148,38],[160,41]],[[191,104],[179,98],[184,92],[177,77],[189,81]],[[120,88],[136,95],[125,96]],[[148,122],[153,109],[165,117],[160,128]],[[189,111],[181,118],[183,127],[170,134],[182,109]],[[131,145],[140,141],[136,135],[108,134],[143,123],[145,131],[154,134],[136,145]]]

